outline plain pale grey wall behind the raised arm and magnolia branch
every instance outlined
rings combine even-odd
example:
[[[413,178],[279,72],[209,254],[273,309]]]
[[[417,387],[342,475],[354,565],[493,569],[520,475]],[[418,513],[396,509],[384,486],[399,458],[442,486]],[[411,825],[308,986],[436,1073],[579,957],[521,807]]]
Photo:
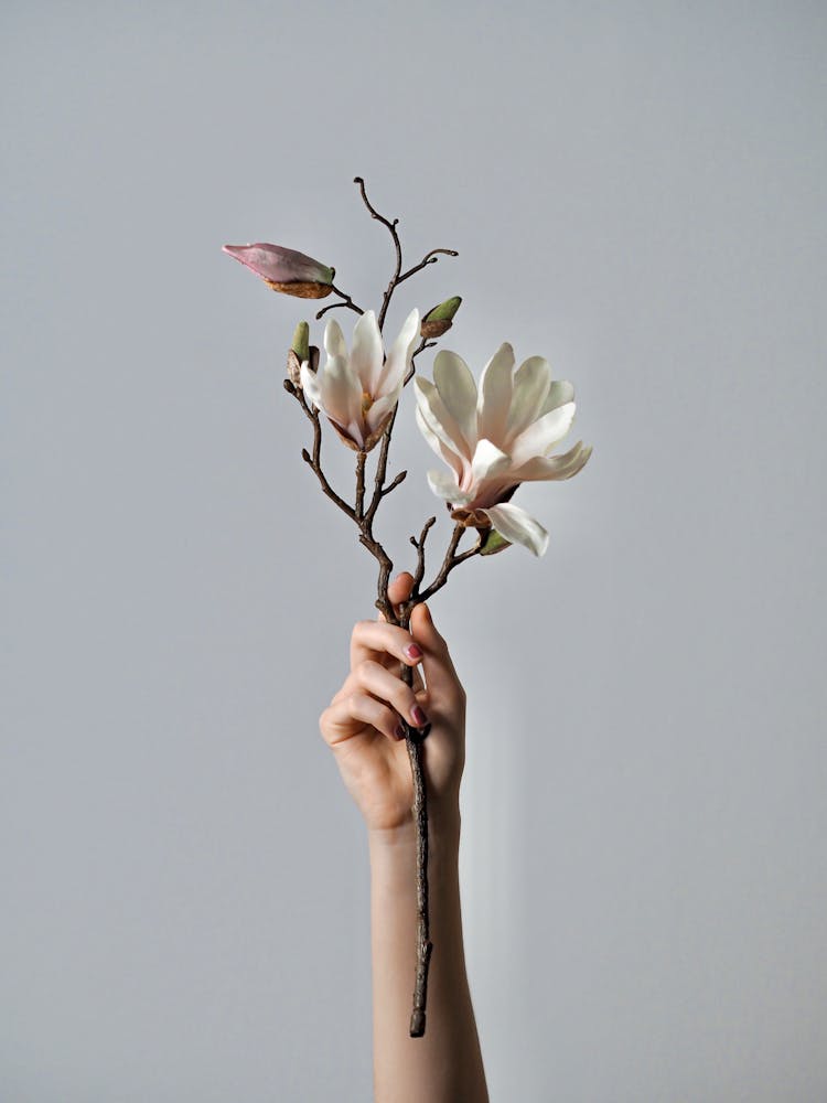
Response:
[[[356,173],[411,263],[461,254],[391,328],[462,293],[444,343],[548,356],[595,448],[520,492],[545,559],[434,603],[493,1099],[827,1097],[826,32],[819,3],[7,0],[4,1103],[370,1095],[363,829],[316,717],[373,567],[298,457],[301,304],[219,251],[287,244],[376,303]],[[436,501],[406,403],[400,565]]]

